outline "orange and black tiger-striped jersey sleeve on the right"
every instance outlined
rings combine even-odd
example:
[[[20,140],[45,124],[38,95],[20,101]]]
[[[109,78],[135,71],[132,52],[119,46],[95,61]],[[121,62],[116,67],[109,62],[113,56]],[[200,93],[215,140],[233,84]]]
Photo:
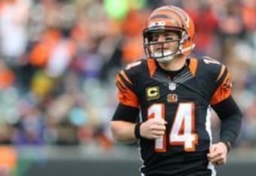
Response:
[[[216,105],[227,99],[232,92],[232,83],[230,77],[230,71],[226,66],[221,65],[221,69],[216,77],[215,91],[212,96],[210,105]]]

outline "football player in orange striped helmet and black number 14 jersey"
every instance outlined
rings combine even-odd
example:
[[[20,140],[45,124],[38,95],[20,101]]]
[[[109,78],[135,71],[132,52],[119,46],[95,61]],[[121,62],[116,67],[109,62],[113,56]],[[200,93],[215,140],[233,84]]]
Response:
[[[194,23],[175,6],[152,12],[143,31],[145,54],[116,77],[119,105],[111,121],[117,141],[139,140],[142,175],[215,175],[241,126],[230,71],[209,57],[191,58]],[[211,109],[221,119],[212,144]],[[137,120],[137,117],[139,120]]]

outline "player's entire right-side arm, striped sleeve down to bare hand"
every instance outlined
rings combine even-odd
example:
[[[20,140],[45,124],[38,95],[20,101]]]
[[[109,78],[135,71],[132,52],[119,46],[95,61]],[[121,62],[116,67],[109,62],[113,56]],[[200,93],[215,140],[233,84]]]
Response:
[[[241,127],[242,113],[231,96],[230,73],[222,65],[223,71],[218,75],[211,106],[221,119],[220,141],[209,148],[210,162],[222,165],[227,162],[227,152],[235,143]]]

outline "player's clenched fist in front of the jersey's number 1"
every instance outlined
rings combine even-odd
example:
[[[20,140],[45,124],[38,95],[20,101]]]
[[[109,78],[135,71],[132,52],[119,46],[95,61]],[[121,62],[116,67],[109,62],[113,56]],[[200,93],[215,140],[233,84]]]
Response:
[[[166,131],[166,123],[163,119],[149,119],[140,126],[140,134],[143,138],[161,138]]]

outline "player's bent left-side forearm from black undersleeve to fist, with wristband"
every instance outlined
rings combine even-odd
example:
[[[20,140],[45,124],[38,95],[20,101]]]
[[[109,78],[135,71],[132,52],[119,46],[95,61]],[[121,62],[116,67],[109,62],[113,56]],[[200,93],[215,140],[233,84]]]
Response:
[[[115,141],[133,142],[139,138],[161,138],[166,130],[166,121],[150,119],[135,123],[139,108],[119,104],[111,121],[111,132]]]

